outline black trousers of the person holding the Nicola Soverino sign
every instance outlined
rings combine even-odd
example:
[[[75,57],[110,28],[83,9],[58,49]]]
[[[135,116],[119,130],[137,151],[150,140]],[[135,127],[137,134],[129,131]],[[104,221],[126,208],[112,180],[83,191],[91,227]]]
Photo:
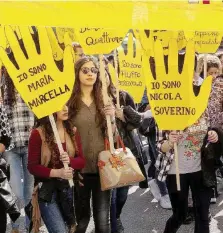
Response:
[[[175,175],[168,175],[166,184],[173,215],[168,219],[164,233],[175,233],[183,224],[187,216],[189,187],[195,213],[194,233],[210,233],[208,214],[212,190],[203,185],[202,172],[180,175],[181,191],[177,191]]]

